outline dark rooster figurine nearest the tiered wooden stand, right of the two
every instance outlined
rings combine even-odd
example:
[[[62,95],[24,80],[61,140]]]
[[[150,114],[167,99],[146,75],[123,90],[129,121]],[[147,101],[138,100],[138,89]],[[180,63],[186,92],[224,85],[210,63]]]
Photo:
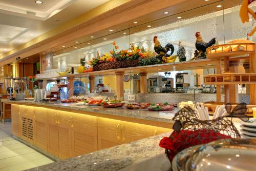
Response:
[[[195,56],[194,60],[197,59],[205,59],[206,58],[206,49],[216,43],[216,38],[213,38],[210,40],[210,42],[206,43],[203,41],[203,38],[200,34],[200,32],[196,32],[196,49],[199,51],[199,53],[196,53],[197,56]]]

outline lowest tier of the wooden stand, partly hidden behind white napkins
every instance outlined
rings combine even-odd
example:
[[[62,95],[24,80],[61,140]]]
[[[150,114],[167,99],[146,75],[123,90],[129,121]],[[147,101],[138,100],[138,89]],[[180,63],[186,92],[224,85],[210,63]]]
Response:
[[[203,102],[203,103],[201,103],[201,104],[203,104],[204,105],[204,107],[207,107],[208,108],[208,111],[209,111],[209,114],[210,115],[213,115],[214,114],[214,112],[215,112],[215,109],[216,109],[216,107],[217,106],[221,106],[221,105],[223,105],[223,104],[225,104],[224,102]],[[234,107],[236,107],[238,104],[232,104],[232,109],[234,108]],[[256,105],[246,105],[247,106],[247,113],[246,113],[246,115],[247,116],[249,116],[249,117],[252,117],[252,113],[253,113],[253,111],[252,111],[252,107],[256,107]],[[231,109],[231,110],[232,110]]]

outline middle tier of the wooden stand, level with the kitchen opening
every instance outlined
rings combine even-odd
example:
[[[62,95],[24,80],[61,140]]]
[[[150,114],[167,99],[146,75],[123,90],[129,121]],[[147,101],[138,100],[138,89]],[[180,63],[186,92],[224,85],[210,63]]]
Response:
[[[256,73],[222,73],[204,76],[205,85],[256,84]]]

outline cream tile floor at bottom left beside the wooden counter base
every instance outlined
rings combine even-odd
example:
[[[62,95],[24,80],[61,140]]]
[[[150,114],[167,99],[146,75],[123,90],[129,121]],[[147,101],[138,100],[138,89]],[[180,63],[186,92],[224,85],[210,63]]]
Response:
[[[13,139],[11,122],[0,123],[0,171],[25,170],[53,161]]]

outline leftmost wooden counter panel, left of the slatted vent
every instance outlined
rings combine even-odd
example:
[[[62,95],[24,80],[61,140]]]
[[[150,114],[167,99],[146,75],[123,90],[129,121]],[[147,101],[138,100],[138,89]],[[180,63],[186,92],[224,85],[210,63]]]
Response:
[[[12,134],[20,138],[19,105],[12,105]]]

